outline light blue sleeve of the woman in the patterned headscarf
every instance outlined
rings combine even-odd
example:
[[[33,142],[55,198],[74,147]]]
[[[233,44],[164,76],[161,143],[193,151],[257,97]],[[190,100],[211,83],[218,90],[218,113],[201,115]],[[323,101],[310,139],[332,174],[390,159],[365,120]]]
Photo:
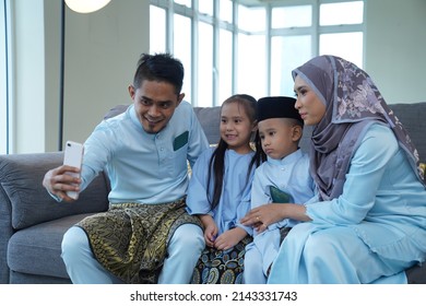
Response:
[[[387,164],[398,150],[397,139],[389,128],[371,126],[351,161],[342,195],[330,201],[309,203],[307,215],[313,223],[362,222],[375,204]]]

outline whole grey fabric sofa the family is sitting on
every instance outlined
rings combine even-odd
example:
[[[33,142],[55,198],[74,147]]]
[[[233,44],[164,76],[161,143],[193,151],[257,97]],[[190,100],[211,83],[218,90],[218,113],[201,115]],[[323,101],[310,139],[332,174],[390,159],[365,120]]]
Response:
[[[110,109],[105,118],[128,106]],[[391,105],[426,161],[426,103]],[[194,111],[211,144],[218,141],[220,107]],[[307,149],[305,128],[300,146]],[[73,203],[56,202],[42,186],[45,173],[62,164],[63,152],[0,155],[0,283],[70,283],[60,257],[63,233],[83,217],[106,211],[109,191],[104,173]],[[426,204],[426,199],[425,199]],[[425,242],[426,243],[426,242]],[[426,283],[426,266],[406,271],[409,283]]]

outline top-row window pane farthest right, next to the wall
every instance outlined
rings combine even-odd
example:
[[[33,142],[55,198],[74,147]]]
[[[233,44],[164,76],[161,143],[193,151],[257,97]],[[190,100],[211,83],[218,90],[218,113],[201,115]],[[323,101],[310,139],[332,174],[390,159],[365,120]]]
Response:
[[[327,3],[320,5],[320,25],[363,23],[364,2]]]

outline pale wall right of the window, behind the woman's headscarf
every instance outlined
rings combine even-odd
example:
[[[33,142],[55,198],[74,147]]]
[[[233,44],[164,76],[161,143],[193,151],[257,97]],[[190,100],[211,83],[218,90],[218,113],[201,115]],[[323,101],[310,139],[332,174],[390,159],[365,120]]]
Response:
[[[426,1],[366,1],[365,69],[389,103],[425,102]]]

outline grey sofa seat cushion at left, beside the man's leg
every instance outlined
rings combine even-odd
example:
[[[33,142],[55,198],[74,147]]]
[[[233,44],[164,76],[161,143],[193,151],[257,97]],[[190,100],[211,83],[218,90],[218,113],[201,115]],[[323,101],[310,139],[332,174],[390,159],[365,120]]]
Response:
[[[9,240],[9,268],[21,273],[69,279],[60,256],[63,234],[91,214],[66,216],[17,231]]]

